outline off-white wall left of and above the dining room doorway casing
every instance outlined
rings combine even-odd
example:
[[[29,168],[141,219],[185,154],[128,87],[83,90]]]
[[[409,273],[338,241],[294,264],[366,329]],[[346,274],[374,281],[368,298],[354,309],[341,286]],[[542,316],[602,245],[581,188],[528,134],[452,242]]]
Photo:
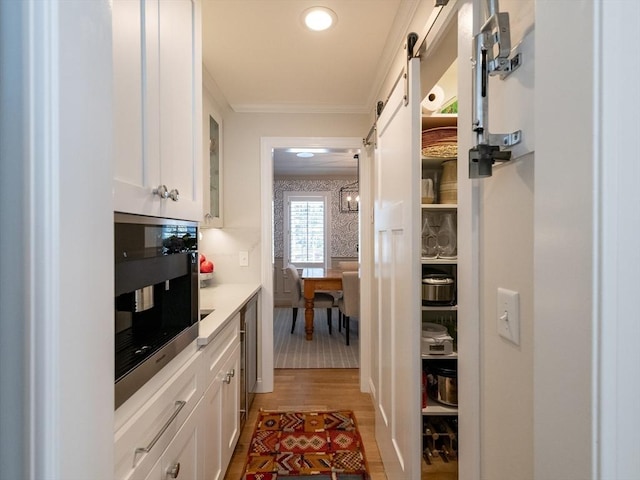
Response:
[[[224,227],[202,230],[201,250],[216,265],[216,282],[261,280],[261,137],[364,137],[367,115],[228,113],[224,117]],[[271,242],[271,239],[267,241]],[[238,252],[249,252],[249,266]]]

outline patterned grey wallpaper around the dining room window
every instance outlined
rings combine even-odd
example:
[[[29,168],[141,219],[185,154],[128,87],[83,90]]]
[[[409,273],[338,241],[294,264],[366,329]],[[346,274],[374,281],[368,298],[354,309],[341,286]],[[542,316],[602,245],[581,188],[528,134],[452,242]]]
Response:
[[[274,255],[284,253],[284,192],[331,192],[331,257],[357,257],[358,213],[340,212],[340,187],[353,180],[274,180],[273,182],[273,236]]]

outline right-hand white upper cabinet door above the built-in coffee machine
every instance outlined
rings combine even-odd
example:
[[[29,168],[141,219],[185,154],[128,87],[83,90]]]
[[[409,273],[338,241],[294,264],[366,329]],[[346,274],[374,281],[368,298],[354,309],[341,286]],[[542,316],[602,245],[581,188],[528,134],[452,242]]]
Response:
[[[177,202],[163,202],[164,213],[196,221],[202,219],[198,7],[195,0],[160,2],[158,15],[160,178],[180,193]]]

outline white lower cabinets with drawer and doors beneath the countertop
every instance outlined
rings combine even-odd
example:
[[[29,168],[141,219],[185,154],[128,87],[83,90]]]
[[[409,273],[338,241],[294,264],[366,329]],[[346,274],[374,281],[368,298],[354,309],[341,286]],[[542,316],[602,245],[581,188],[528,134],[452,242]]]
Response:
[[[240,436],[240,314],[140,405],[116,411],[114,478],[222,479]]]

